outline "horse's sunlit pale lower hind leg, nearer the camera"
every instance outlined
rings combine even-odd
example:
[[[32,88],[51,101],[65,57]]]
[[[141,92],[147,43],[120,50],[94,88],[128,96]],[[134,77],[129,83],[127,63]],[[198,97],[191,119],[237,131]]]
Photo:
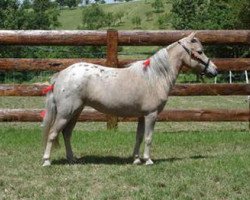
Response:
[[[50,134],[48,136],[46,148],[45,148],[44,155],[43,155],[43,160],[44,160],[43,166],[50,165],[49,158],[50,158],[53,141],[58,137],[58,134],[63,130],[63,128],[66,126],[66,124],[69,121],[68,119],[61,118],[58,116],[59,115],[57,115],[57,118],[52,128],[50,129]]]

